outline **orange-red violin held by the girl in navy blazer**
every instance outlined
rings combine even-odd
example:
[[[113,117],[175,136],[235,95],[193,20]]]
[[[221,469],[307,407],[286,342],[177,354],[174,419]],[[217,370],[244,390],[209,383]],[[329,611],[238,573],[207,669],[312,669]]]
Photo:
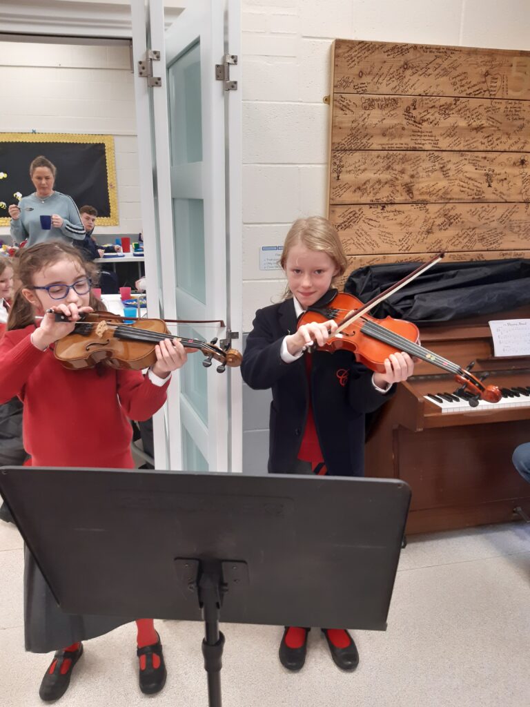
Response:
[[[474,399],[469,400],[471,407],[478,405],[478,398],[487,402],[499,402],[501,399],[502,393],[496,385],[483,385],[468,369],[420,346],[420,332],[412,322],[392,317],[376,319],[367,314],[372,302],[363,304],[353,295],[337,293],[336,290],[330,290],[328,294],[329,300],[320,300],[298,319],[298,327],[310,322],[338,320],[336,332],[318,349],[330,352],[338,349],[351,351],[357,361],[377,373],[384,373],[384,359],[390,354],[405,351],[410,356],[416,356],[452,373],[459,384],[474,396]],[[380,298],[377,298],[377,303],[379,301]]]

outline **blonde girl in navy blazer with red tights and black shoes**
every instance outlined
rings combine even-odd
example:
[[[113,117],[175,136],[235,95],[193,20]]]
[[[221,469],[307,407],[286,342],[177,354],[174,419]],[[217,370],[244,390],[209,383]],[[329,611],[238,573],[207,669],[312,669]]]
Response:
[[[363,476],[365,413],[393,395],[394,383],[413,373],[408,354],[391,354],[384,373],[372,373],[350,351],[329,354],[307,346],[324,341],[334,320],[297,329],[309,308],[325,307],[336,294],[331,286],[346,270],[346,255],[334,226],[320,216],[293,223],[283,246],[287,277],[283,301],[256,312],[241,372],[254,390],[271,388],[269,472]],[[311,349],[310,349],[311,350]],[[307,632],[287,626],[280,660],[288,670],[304,665]],[[343,629],[322,629],[331,657],[342,670],[355,670],[359,655]]]

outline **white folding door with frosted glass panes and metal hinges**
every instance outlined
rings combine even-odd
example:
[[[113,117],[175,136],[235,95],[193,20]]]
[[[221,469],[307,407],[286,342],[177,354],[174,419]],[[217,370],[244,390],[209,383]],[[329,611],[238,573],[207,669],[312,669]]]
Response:
[[[167,29],[163,0],[131,9],[148,314],[222,320],[170,330],[220,341],[233,332],[240,348],[240,72],[228,64],[236,90],[216,72],[240,55],[240,0],[194,0]],[[240,372],[204,360],[189,355],[155,416],[158,469],[241,471]]]

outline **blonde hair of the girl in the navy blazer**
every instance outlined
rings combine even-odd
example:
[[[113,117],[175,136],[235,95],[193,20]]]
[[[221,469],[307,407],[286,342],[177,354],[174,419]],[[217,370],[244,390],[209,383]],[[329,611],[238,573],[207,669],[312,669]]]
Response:
[[[299,244],[305,245],[308,250],[317,250],[329,255],[338,270],[331,280],[332,284],[337,277],[346,272],[348,259],[343,251],[341,239],[338,238],[338,231],[335,226],[329,223],[327,218],[310,216],[309,218],[298,218],[293,223],[293,226],[290,227],[288,234],[285,236],[285,243],[283,243],[283,251],[280,258],[283,270],[285,270],[290,249]],[[283,299],[286,300],[292,296],[287,286],[285,293],[283,293]]]

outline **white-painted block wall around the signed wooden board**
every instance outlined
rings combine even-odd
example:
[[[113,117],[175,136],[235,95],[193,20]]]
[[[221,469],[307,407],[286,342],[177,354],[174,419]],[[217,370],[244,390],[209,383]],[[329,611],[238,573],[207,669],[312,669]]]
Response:
[[[326,214],[334,38],[530,49],[529,0],[242,0],[244,330],[283,291],[260,271],[298,216]]]

